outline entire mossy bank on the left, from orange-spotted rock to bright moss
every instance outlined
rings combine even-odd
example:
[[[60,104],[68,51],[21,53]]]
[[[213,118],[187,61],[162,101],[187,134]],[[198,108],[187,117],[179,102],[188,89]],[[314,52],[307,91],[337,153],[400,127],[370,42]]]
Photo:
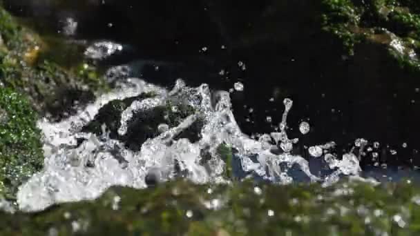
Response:
[[[0,195],[8,199],[44,164],[37,115],[59,119],[74,101],[107,88],[93,66],[80,61],[65,69],[51,62],[53,50],[60,48],[0,7]]]

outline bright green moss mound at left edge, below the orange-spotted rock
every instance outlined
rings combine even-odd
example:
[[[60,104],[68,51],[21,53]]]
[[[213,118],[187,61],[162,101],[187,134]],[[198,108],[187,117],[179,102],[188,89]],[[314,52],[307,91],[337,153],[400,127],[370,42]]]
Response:
[[[44,156],[37,115],[29,101],[9,88],[0,88],[0,110],[0,195],[13,198],[17,186],[41,169]]]

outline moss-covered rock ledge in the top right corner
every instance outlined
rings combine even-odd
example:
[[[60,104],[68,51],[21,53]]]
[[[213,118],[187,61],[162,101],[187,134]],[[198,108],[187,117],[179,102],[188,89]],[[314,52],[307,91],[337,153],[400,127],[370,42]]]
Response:
[[[388,47],[401,67],[418,73],[419,60],[411,52],[420,48],[408,42],[420,40],[419,8],[419,1],[410,0],[323,0],[323,30],[340,39],[350,55],[359,43],[380,43]],[[401,43],[405,48],[394,50],[394,39],[405,42]]]

